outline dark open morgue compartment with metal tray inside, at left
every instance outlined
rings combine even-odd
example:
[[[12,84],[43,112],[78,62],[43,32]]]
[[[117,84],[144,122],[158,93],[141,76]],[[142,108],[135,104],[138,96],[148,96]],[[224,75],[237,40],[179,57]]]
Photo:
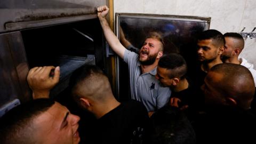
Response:
[[[104,69],[105,49],[98,19],[21,30],[21,35],[30,68],[60,66],[60,82],[51,97],[66,89],[77,68],[87,64]]]

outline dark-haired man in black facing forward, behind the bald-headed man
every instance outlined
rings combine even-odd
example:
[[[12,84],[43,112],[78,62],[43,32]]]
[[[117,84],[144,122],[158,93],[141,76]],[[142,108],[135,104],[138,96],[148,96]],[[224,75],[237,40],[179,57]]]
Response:
[[[201,63],[195,66],[193,73],[190,73],[191,79],[195,87],[199,88],[204,84],[204,78],[207,72],[215,65],[222,63],[220,56],[224,51],[225,37],[220,31],[208,29],[203,31],[198,36],[197,41],[197,56]]]

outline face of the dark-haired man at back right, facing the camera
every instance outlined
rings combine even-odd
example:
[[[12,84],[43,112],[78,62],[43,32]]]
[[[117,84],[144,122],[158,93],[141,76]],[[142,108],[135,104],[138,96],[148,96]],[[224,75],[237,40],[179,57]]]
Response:
[[[217,59],[220,47],[213,45],[212,39],[204,39],[197,42],[199,61],[213,61]]]

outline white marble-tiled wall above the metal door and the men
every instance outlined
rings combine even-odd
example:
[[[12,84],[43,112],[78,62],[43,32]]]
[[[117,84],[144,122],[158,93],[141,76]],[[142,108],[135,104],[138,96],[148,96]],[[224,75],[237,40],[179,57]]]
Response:
[[[114,0],[114,12],[211,17],[210,29],[250,32],[256,27],[255,0]],[[254,31],[256,33],[256,30]],[[256,38],[245,39],[241,56],[256,67]]]

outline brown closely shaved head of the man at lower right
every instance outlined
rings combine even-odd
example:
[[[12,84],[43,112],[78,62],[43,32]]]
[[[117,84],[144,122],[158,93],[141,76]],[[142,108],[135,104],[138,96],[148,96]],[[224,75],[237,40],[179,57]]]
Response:
[[[232,98],[239,107],[250,108],[255,84],[251,72],[246,67],[233,63],[215,65],[207,74],[205,81],[215,82],[213,85],[219,91],[220,97]]]

